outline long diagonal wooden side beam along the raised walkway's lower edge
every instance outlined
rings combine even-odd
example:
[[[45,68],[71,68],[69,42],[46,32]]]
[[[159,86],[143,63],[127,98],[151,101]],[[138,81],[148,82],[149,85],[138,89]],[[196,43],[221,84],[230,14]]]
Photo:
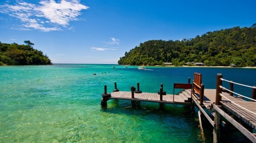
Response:
[[[234,127],[236,127],[238,130],[240,130],[248,139],[250,139],[252,142],[256,142],[256,137],[251,132],[249,132],[246,128],[244,128],[242,125],[240,125],[236,120],[232,119],[229,115],[227,115],[218,106],[214,105],[214,109],[216,111],[218,111],[221,114],[221,116],[226,118]]]

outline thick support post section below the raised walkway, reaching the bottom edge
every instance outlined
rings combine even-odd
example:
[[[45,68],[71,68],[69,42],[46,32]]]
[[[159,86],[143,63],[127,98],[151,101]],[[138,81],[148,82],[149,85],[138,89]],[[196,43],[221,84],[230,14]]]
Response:
[[[218,111],[215,110],[215,117],[214,117],[214,143],[220,142],[220,119],[221,115]]]

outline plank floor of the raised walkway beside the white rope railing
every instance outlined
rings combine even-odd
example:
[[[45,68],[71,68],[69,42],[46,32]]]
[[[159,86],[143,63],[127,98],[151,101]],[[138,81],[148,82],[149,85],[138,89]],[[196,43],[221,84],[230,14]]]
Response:
[[[252,111],[256,112],[256,102],[245,101],[239,97],[230,96],[228,93],[222,92],[222,95],[231,100],[232,102]],[[256,115],[250,111],[247,111],[240,106],[230,102],[225,97],[222,97],[221,107],[225,108],[233,115],[237,116],[239,119],[247,123],[253,129],[256,129]],[[199,98],[199,95],[193,95],[193,98]],[[212,103],[216,100],[216,90],[215,89],[205,89],[204,90],[204,101],[203,105],[205,108],[210,109]]]

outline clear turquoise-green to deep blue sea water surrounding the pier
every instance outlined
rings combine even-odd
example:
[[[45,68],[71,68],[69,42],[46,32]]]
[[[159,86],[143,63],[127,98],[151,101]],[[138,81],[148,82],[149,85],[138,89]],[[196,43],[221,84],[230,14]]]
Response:
[[[186,83],[188,77],[192,81],[198,72],[207,89],[216,88],[217,73],[256,85],[256,69],[250,68],[146,69],[89,64],[1,66],[0,142],[212,142],[211,125],[203,122],[202,136],[198,115],[183,105],[165,105],[160,111],[157,103],[131,107],[131,101],[109,100],[106,108],[101,107],[104,84],[108,93],[114,90],[114,82],[120,91],[130,91],[140,82],[142,92],[156,93],[163,83],[164,91],[172,94],[173,83]],[[249,88],[234,85],[234,91],[251,96]],[[236,129],[227,132],[222,141],[248,141]]]

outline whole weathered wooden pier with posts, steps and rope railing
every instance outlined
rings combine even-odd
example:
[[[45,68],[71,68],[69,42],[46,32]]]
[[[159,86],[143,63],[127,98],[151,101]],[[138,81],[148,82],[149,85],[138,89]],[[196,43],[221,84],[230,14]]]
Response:
[[[233,96],[233,82],[229,81],[230,87],[227,90],[227,88],[222,87],[223,80],[225,79],[222,78],[222,74],[218,74],[216,89],[204,89],[202,75],[195,73],[193,83],[191,84],[190,78],[188,83],[174,83],[174,90],[182,89],[176,95],[166,94],[163,91],[162,84],[158,93],[144,93],[140,91],[139,83],[137,83],[137,91],[134,87],[131,87],[131,92],[119,91],[115,83],[115,90],[112,93],[106,93],[105,85],[101,105],[106,106],[106,102],[110,99],[131,100],[132,105],[136,105],[136,103],[141,101],[156,102],[159,103],[160,109],[163,109],[163,104],[191,105],[192,107],[196,105],[200,109],[199,119],[201,119],[201,113],[203,113],[204,117],[214,128],[214,142],[220,142],[220,128],[222,128],[221,125],[225,125],[221,117],[240,130],[252,142],[256,142],[256,133],[255,131],[253,132],[253,129],[256,130],[256,102],[246,101],[241,97]],[[256,88],[251,88],[251,101],[256,101]],[[207,112],[211,112],[211,115]],[[241,122],[244,124],[241,124]],[[200,120],[201,131],[203,130],[202,126]]]

